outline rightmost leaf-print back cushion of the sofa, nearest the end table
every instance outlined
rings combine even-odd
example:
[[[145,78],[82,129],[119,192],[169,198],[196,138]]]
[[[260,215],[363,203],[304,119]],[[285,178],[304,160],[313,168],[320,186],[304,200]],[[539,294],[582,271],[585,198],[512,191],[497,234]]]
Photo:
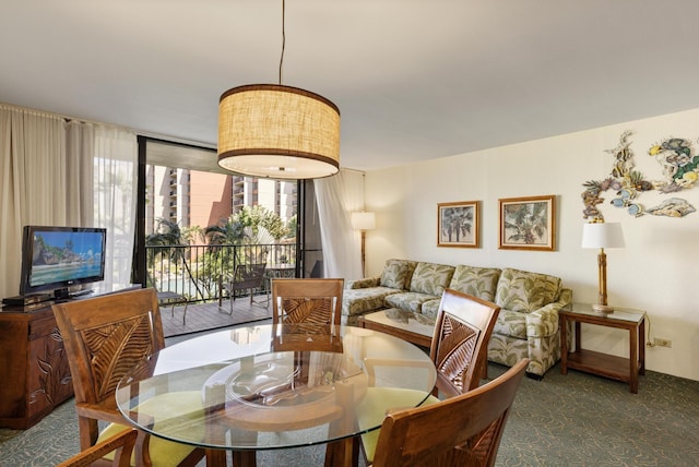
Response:
[[[529,313],[556,301],[559,294],[560,278],[508,267],[500,274],[495,302],[503,310]]]

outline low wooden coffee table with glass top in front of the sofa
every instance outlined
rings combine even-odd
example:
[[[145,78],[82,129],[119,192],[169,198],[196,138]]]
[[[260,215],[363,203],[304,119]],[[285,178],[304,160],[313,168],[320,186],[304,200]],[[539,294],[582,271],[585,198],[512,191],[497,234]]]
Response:
[[[413,313],[395,308],[375,311],[359,316],[359,325],[367,330],[380,331],[420,347],[430,347],[435,324],[415,319]]]

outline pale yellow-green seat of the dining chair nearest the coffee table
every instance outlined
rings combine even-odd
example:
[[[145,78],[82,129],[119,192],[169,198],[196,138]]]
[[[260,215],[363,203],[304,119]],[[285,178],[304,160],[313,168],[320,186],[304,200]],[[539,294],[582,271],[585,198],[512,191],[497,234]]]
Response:
[[[427,397],[427,398],[425,398]],[[367,387],[367,394],[357,408],[357,423],[365,430],[368,427],[380,427],[387,411],[411,407],[422,407],[438,403],[435,396],[424,391],[398,387]],[[390,407],[388,410],[387,407]],[[367,462],[374,462],[374,453],[381,430],[376,429],[362,434],[362,444]]]

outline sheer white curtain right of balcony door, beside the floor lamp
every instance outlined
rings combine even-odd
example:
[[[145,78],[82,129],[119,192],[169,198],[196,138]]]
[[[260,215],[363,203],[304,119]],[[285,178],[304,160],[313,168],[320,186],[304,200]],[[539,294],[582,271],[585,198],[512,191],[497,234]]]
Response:
[[[341,169],[313,180],[325,277],[362,277],[362,237],[352,228],[352,213],[364,209],[364,173]]]

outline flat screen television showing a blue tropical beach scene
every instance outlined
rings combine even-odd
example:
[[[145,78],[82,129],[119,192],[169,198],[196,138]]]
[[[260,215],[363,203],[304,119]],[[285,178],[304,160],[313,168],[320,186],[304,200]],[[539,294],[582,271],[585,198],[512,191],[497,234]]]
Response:
[[[20,295],[70,297],[74,286],[104,280],[107,229],[25,226]]]

